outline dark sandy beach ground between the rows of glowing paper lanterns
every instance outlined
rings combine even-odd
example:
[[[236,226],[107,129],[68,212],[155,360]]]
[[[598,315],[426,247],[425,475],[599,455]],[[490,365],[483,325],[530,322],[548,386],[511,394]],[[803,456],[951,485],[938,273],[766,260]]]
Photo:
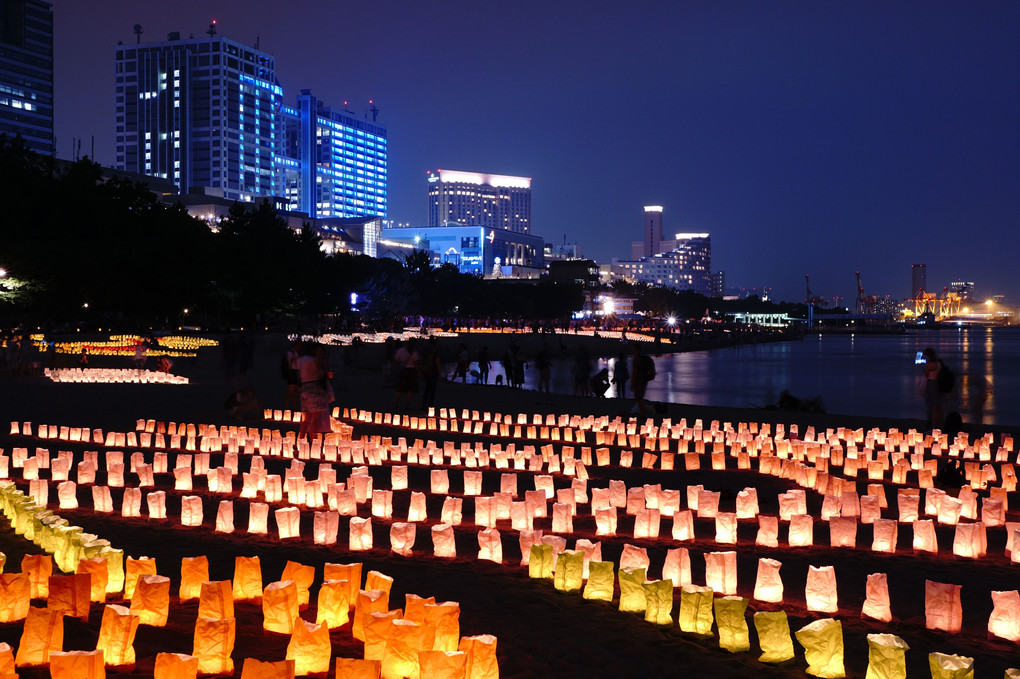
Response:
[[[147,385],[147,384],[64,384],[53,383],[43,378],[18,377],[0,381],[0,412],[3,428],[0,432],[0,449],[6,455],[15,447],[45,447],[56,455],[59,450],[73,453],[80,459],[86,450],[96,447],[63,441],[44,441],[7,434],[11,421],[32,422],[35,425],[52,424],[70,427],[103,428],[107,431],[133,431],[138,420],[154,419],[160,422],[187,422],[214,425],[248,425],[258,428],[294,430],[296,425],[265,422],[261,419],[239,422],[232,420],[223,408],[228,394],[251,386],[266,408],[283,406],[286,387],[279,376],[279,357],[288,343],[280,335],[251,335],[254,342],[254,369],[244,375],[227,374],[222,366],[222,355],[218,349],[202,350],[195,359],[180,359],[174,372],[189,377],[188,385]],[[516,343],[525,356],[533,356],[544,344],[564,348],[583,343],[593,356],[616,355],[624,345],[619,340],[605,337],[570,336],[559,342],[543,335],[511,334],[466,334],[458,337],[444,337],[440,341],[444,362],[453,362],[457,345],[464,342],[472,356],[480,347],[487,346],[494,360],[502,355],[510,343]],[[566,352],[562,349],[561,352]],[[330,350],[330,362],[336,370],[337,406],[380,413],[394,412],[396,394],[381,370],[382,347],[365,345],[358,353],[335,348]],[[567,360],[567,359],[563,359]],[[126,366],[128,358],[97,359],[97,365]],[[620,416],[624,421],[633,402],[629,400],[607,400],[552,395],[539,398],[533,391],[515,390],[505,386],[482,386],[443,381],[438,391],[438,405],[448,413],[459,416],[467,411],[509,415],[516,419],[518,414],[526,414],[530,420],[534,414],[567,416]],[[399,415],[424,415],[417,411],[400,412]],[[771,410],[743,410],[664,405],[656,413],[653,423],[685,421],[693,426],[702,420],[708,428],[713,420],[732,423],[782,424],[788,430],[796,425],[803,434],[809,427],[821,432],[827,428],[882,430],[897,428],[901,432],[920,428],[918,421],[889,420],[876,418],[851,418],[838,415],[790,414]],[[509,443],[523,447],[534,445],[524,435],[490,436],[452,431],[417,432],[402,426],[366,424],[347,420],[354,427],[355,438],[359,436],[390,436],[394,440],[406,438],[410,445],[415,438],[436,440],[442,449],[443,441],[453,441],[456,446],[470,447],[482,441],[486,446]],[[1005,428],[996,430],[998,435]],[[588,487],[605,487],[612,480],[622,480],[627,487],[646,484],[660,484],[663,488],[679,488],[704,485],[707,489],[720,493],[720,511],[732,511],[736,493],[746,487],[757,488],[760,512],[763,515],[779,513],[777,497],[797,485],[792,480],[777,476],[762,475],[757,469],[736,469],[730,461],[725,471],[711,469],[706,456],[699,470],[684,470],[677,459],[675,470],[658,468],[644,469],[640,463],[630,467],[616,464],[625,450],[618,445],[609,446],[614,464],[588,467],[590,478]],[[101,449],[105,450],[105,449]],[[124,451],[126,458],[130,451]],[[1016,454],[1011,457],[1012,462]],[[221,456],[213,455],[213,458]],[[678,458],[680,456],[677,456]],[[635,453],[635,458],[640,455]],[[270,473],[286,473],[289,461],[267,459]],[[215,465],[214,465],[215,466]],[[247,469],[243,462],[242,469]],[[340,463],[338,476],[347,478],[350,466]],[[310,463],[306,477],[314,477],[315,464]],[[460,478],[460,470],[451,470],[451,478]],[[389,487],[390,473],[384,466],[371,467],[370,474],[375,487]],[[501,472],[490,468],[483,472],[482,494],[492,494],[500,489]],[[886,476],[887,479],[887,476]],[[158,481],[162,489],[166,480]],[[521,472],[521,493],[532,487]],[[864,494],[868,481],[858,476],[859,492]],[[129,483],[130,484],[130,483]],[[55,484],[52,484],[55,485]],[[472,524],[473,512],[470,499],[464,501],[464,523],[456,531],[457,558],[439,559],[432,556],[428,530],[420,527],[414,542],[412,558],[394,555],[389,550],[390,521],[376,519],[373,522],[374,547],[367,552],[350,552],[346,549],[346,517],[342,517],[340,541],[337,545],[315,544],[312,539],[312,512],[302,511],[300,538],[282,541],[269,535],[249,535],[243,530],[248,520],[248,504],[238,500],[238,486],[232,494],[235,501],[235,524],[232,534],[214,533],[205,526],[212,525],[218,503],[223,500],[219,493],[205,489],[204,481],[196,482],[194,491],[204,506],[205,523],[201,529],[181,525],[181,495],[173,491],[172,477],[167,492],[167,519],[152,521],[145,517],[122,518],[118,513],[98,514],[92,512],[91,495],[79,489],[81,509],[59,510],[71,524],[82,526],[86,531],[100,535],[113,546],[124,550],[126,555],[149,556],[157,560],[160,574],[171,578],[171,591],[176,592],[180,581],[178,571],[182,557],[206,555],[209,559],[212,579],[227,579],[234,568],[235,557],[259,555],[265,583],[278,579],[288,561],[310,565],[316,569],[316,586],[321,580],[325,563],[364,563],[364,570],[378,570],[394,578],[391,595],[393,608],[403,605],[404,594],[416,593],[435,596],[437,600],[455,600],[461,607],[461,633],[463,635],[493,634],[498,638],[500,673],[503,677],[647,677],[647,676],[691,676],[714,675],[717,677],[804,677],[807,664],[803,649],[795,642],[797,657],[780,666],[759,662],[758,639],[751,625],[751,650],[731,654],[719,647],[716,637],[699,637],[681,632],[675,621],[677,607],[672,611],[671,626],[653,625],[641,615],[622,613],[611,603],[585,600],[576,593],[557,591],[552,583],[544,579],[528,577],[526,568],[518,564],[521,559],[516,532],[509,522],[501,522],[503,533],[503,563],[495,564],[476,558],[478,552],[477,530]],[[410,489],[427,489],[429,476],[423,465],[409,466],[408,485]],[[888,484],[885,494],[889,510],[883,517],[896,517],[896,490]],[[28,489],[28,481],[18,481],[18,486]],[[559,475],[556,487],[570,487],[570,479]],[[112,488],[113,505],[119,508],[122,488]],[[459,493],[461,485],[452,483],[451,492]],[[984,493],[986,494],[986,493]],[[55,490],[51,490],[51,500]],[[1020,520],[1017,511],[1016,493],[1010,492],[1010,510],[1007,521]],[[822,509],[822,498],[818,493],[807,493],[809,514],[818,517]],[[87,502],[88,501],[88,502]],[[407,516],[410,498],[407,492],[395,492],[393,499],[393,520],[403,520]],[[923,503],[923,499],[922,499]],[[429,497],[428,524],[439,522],[442,499]],[[55,507],[55,505],[54,505]],[[551,514],[551,512],[550,512]],[[367,507],[359,508],[360,516],[367,516]],[[0,522],[6,523],[2,519]],[[895,553],[872,552],[870,545],[873,529],[870,524],[860,524],[856,549],[835,549],[829,546],[826,522],[815,520],[814,545],[790,549],[785,544],[785,527],[780,529],[778,547],[764,547],[756,544],[757,521],[738,523],[736,543],[717,543],[714,538],[716,522],[710,518],[695,518],[696,539],[677,542],[670,539],[670,521],[663,519],[662,532],[658,539],[632,537],[634,517],[623,514],[619,519],[615,535],[597,535],[596,522],[591,515],[578,515],[573,522],[572,535],[568,536],[568,546],[575,538],[600,541],[605,561],[619,562],[625,544],[640,546],[647,551],[650,569],[649,578],[659,578],[662,565],[670,549],[684,546],[688,550],[692,565],[692,579],[696,584],[704,584],[705,558],[712,552],[731,551],[736,553],[736,592],[741,596],[752,597],[760,558],[776,559],[782,562],[782,578],[785,595],[781,605],[764,604],[752,598],[748,620],[754,611],[783,610],[789,618],[792,630],[807,623],[830,617],[808,611],[804,583],[811,566],[833,566],[838,582],[838,613],[835,617],[843,624],[846,647],[847,676],[864,677],[868,664],[869,633],[892,633],[901,636],[910,645],[907,654],[907,668],[910,677],[927,675],[927,656],[931,651],[960,654],[975,659],[978,677],[1001,677],[1006,668],[1020,665],[1020,646],[1003,639],[989,639],[986,626],[991,612],[991,590],[1009,590],[1017,586],[1017,564],[1011,564],[1005,553],[1005,530],[988,529],[987,555],[981,559],[966,559],[953,556],[954,527],[936,525],[940,552],[935,554],[915,553],[911,546],[910,526],[901,527]],[[536,519],[536,528],[551,532],[551,518]],[[35,553],[31,544],[19,541],[9,527],[5,528],[0,550],[7,554],[5,572],[17,570],[23,553]],[[19,552],[20,550],[20,552]],[[861,616],[865,599],[865,584],[871,573],[885,573],[888,579],[892,620],[881,623]],[[963,623],[960,633],[948,633],[925,628],[924,581],[955,583],[963,586]],[[679,591],[674,593],[676,604]],[[312,609],[314,609],[314,591]],[[36,605],[40,605],[39,602]],[[234,657],[236,671],[240,676],[243,658],[261,660],[282,660],[286,654],[287,637],[265,634],[261,630],[261,610],[251,605],[239,604],[238,638]],[[64,630],[64,649],[92,649],[98,634],[98,620],[102,607],[93,604],[88,623],[67,619]],[[309,614],[303,614],[309,619]],[[136,639],[138,666],[132,673],[110,672],[107,676],[146,677],[152,676],[152,666],[157,651],[190,652],[192,630],[197,616],[197,604],[171,603],[170,618],[165,628],[142,627]],[[310,618],[314,620],[314,618]],[[18,640],[16,624],[0,624],[0,641],[16,646]],[[351,638],[347,629],[334,630],[330,634],[335,656],[360,658],[361,644]],[[22,677],[46,677],[45,670],[24,669]],[[332,677],[333,674],[330,673]]]

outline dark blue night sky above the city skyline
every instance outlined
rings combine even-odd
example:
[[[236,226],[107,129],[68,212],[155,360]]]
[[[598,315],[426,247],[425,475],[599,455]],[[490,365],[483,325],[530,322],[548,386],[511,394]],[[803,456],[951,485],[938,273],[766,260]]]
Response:
[[[56,135],[113,161],[113,50],[219,32],[390,129],[390,216],[425,171],[532,177],[532,227],[629,256],[642,206],[727,283],[853,304],[977,283],[1020,304],[1020,2],[53,0]]]

